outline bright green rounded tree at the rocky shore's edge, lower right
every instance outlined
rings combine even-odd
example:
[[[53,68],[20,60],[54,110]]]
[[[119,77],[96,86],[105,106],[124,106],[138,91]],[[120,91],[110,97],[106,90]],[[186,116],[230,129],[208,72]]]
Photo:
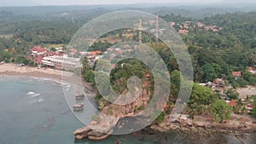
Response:
[[[232,107],[228,106],[226,101],[217,100],[212,103],[211,107],[213,115],[216,114],[222,123],[224,120],[231,118]]]

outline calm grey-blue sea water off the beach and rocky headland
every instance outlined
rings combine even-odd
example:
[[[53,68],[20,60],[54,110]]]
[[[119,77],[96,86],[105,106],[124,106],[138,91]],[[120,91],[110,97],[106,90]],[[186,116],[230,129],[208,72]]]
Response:
[[[178,144],[191,143],[175,131],[154,135],[112,135],[104,141],[75,141],[73,131],[83,124],[73,116],[65,101],[61,84],[32,78],[0,78],[0,144]],[[194,143],[252,143],[245,139],[220,135],[212,142],[199,138]]]

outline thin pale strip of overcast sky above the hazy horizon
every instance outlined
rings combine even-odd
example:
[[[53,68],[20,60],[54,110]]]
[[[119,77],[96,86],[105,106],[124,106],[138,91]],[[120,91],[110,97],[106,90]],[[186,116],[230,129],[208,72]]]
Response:
[[[90,5],[126,3],[256,3],[256,0],[0,0],[0,5]]]

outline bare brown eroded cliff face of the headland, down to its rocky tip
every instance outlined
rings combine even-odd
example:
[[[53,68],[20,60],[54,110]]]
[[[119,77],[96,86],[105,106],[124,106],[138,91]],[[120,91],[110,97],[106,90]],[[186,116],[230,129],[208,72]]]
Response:
[[[127,105],[110,104],[102,109],[97,115],[97,121],[74,131],[76,139],[88,137],[90,140],[98,141],[107,138],[113,133],[114,127],[118,124],[119,118],[133,117],[142,112],[148,106],[151,97],[151,82],[143,81],[143,89],[137,99]],[[120,101],[117,99],[116,101]]]

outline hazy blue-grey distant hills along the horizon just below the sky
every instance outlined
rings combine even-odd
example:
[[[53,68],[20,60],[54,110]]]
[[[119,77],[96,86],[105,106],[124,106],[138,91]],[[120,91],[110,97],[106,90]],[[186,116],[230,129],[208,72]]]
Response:
[[[0,6],[9,5],[11,3],[20,4],[20,6],[13,7],[0,7],[0,12],[5,11],[12,14],[29,14],[29,15],[40,15],[40,14],[55,14],[55,13],[72,13],[76,14],[78,11],[87,12],[98,11],[98,9],[105,9],[108,12],[114,10],[141,10],[151,14],[181,14],[183,16],[191,18],[203,18],[205,16],[211,16],[214,14],[224,14],[226,12],[248,12],[256,11],[256,3],[253,4],[241,4],[241,7],[230,4],[212,4],[212,5],[175,5],[175,4],[166,4],[162,6],[161,4],[155,4],[154,6],[150,3],[148,4],[113,4],[113,5],[75,5],[75,6],[22,6],[22,5],[37,5],[32,3],[30,0],[0,0]]]

